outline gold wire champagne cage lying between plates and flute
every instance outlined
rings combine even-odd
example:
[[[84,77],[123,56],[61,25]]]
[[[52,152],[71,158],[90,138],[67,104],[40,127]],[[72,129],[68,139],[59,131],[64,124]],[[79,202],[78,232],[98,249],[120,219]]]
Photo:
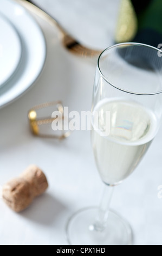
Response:
[[[42,138],[57,138],[57,139],[64,139],[70,136],[69,131],[62,131],[62,135],[57,136],[57,135],[49,135],[43,134],[40,132],[40,126],[41,125],[49,125],[51,124],[56,118],[51,118],[51,117],[46,117],[46,118],[37,118],[37,111],[43,108],[48,108],[56,106],[57,111],[59,111],[62,114],[62,118],[64,119],[64,109],[62,106],[61,101],[54,101],[54,102],[47,102],[43,103],[40,105],[37,105],[33,108],[30,109],[28,112],[28,119],[29,119],[29,124],[30,124],[30,130],[33,133],[34,136],[37,137],[42,137]]]

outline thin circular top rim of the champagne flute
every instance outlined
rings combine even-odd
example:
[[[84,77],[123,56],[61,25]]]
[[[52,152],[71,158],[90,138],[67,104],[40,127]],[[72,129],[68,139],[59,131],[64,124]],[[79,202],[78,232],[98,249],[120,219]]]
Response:
[[[157,52],[160,52],[162,54],[162,51],[159,49],[159,48],[156,48],[154,46],[151,46],[151,45],[146,45],[146,44],[142,44],[140,42],[121,42],[120,44],[115,44],[115,45],[112,45],[112,46],[109,46],[107,47],[104,51],[101,52],[99,58],[98,58],[98,70],[100,72],[100,75],[101,77],[111,86],[113,86],[114,88],[118,89],[118,90],[121,90],[122,92],[125,92],[125,93],[129,93],[129,94],[134,94],[134,95],[142,95],[142,96],[148,96],[148,95],[156,95],[156,94],[161,94],[162,93],[162,90],[158,91],[158,92],[154,92],[154,93],[135,93],[135,92],[131,92],[131,91],[128,91],[128,90],[124,90],[124,89],[121,89],[119,88],[118,86],[115,86],[113,83],[111,83],[110,81],[108,81],[108,79],[103,75],[102,71],[101,71],[101,68],[100,68],[100,59],[102,57],[102,54],[111,50],[112,48],[117,48],[119,46],[124,46],[124,45],[136,45],[136,46],[144,46],[144,47],[148,47],[148,48],[152,48],[153,50],[157,51]],[[160,58],[160,57],[159,57]],[[161,57],[162,58],[162,57]]]

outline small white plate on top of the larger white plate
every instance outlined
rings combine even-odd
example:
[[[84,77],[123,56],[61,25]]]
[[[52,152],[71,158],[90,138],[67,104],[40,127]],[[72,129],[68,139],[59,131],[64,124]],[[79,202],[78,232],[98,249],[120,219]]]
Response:
[[[21,50],[21,41],[15,28],[0,15],[0,87],[17,69]]]

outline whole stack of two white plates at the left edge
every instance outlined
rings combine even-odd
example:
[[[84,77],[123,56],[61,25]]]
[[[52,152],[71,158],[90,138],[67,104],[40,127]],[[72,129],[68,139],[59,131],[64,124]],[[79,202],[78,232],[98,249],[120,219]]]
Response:
[[[46,42],[21,5],[0,0],[0,107],[22,95],[42,71]]]

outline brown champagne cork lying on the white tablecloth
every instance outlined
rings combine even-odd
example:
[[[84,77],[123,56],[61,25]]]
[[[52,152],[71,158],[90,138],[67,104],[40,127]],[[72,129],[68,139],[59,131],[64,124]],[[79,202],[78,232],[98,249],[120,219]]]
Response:
[[[21,212],[47,188],[48,181],[42,170],[31,165],[18,178],[12,179],[3,186],[2,197],[12,210]]]

